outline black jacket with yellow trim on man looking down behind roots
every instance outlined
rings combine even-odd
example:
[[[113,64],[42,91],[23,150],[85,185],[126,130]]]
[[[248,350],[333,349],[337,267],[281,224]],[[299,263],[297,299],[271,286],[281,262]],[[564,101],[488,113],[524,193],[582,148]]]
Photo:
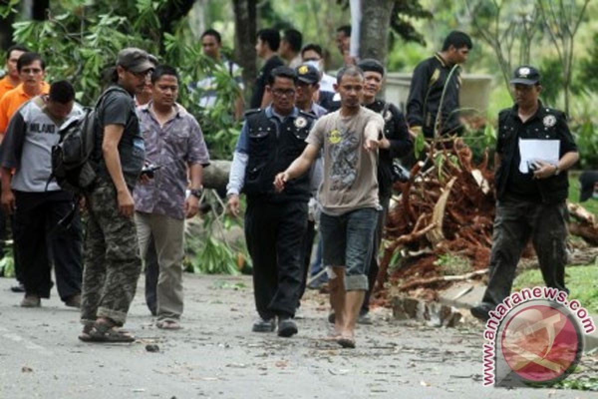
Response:
[[[456,66],[449,79],[452,69],[453,65],[448,65],[437,53],[420,62],[413,71],[407,100],[407,122],[409,126],[422,126],[426,137],[434,136],[437,124],[441,134],[460,133],[462,130],[459,121],[460,67]],[[441,106],[444,86],[446,92]],[[439,108],[440,120],[437,121]]]

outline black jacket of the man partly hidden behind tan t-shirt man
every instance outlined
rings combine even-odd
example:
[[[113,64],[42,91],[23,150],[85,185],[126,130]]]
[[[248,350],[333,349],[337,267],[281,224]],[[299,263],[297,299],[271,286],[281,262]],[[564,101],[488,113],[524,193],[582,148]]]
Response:
[[[393,159],[403,157],[413,150],[413,141],[405,116],[394,104],[375,100],[365,107],[382,115],[384,135],[390,141],[390,148],[379,149],[378,159],[378,193],[380,197],[388,197],[392,194]]]

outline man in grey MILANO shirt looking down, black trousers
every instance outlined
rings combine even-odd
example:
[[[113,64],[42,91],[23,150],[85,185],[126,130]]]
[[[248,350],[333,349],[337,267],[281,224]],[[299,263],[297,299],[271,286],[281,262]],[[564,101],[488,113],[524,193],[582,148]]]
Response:
[[[38,307],[41,298],[50,297],[50,255],[60,299],[66,306],[78,307],[81,302],[80,217],[72,193],[56,182],[48,183],[50,154],[60,139],[60,124],[81,115],[74,99],[70,83],[53,83],[48,95],[34,97],[13,115],[2,145],[2,208],[15,214],[14,240],[25,285],[23,307]],[[72,211],[68,226],[61,224]]]

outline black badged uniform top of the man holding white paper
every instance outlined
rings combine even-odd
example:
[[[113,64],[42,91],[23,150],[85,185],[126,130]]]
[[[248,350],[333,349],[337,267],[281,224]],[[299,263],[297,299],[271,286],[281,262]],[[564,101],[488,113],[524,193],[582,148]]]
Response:
[[[559,159],[566,153],[577,151],[564,112],[547,108],[540,102],[536,114],[523,123],[517,114],[517,109],[517,105],[503,109],[498,117],[496,153],[501,156],[501,165],[496,168],[495,172],[498,199],[504,198],[505,193],[509,191],[509,175],[520,173],[518,172],[519,165],[515,165],[520,138],[559,140]],[[569,180],[566,171],[546,179],[533,179],[532,184],[538,185],[538,191],[544,203],[563,201],[569,194]]]

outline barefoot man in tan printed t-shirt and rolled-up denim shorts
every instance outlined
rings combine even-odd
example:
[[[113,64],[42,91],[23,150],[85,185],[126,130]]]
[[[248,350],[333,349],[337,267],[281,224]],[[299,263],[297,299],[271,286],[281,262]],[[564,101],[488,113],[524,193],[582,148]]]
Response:
[[[307,172],[324,152],[320,232],[331,275],[334,339],[344,348],[355,348],[355,324],[368,289],[371,237],[380,208],[376,170],[384,121],[360,105],[363,88],[361,69],[347,66],[338,72],[335,89],[341,109],[316,122],[303,154],[274,179],[277,190],[284,190],[286,182]]]

